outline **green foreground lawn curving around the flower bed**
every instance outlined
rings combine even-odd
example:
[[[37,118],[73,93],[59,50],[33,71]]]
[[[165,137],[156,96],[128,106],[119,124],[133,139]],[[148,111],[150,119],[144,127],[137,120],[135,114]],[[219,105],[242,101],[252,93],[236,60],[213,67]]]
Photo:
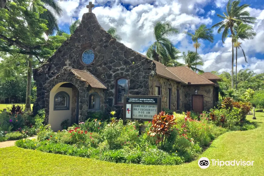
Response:
[[[258,128],[231,131],[213,141],[200,157],[219,160],[250,160],[253,166],[211,166],[201,169],[197,161],[175,166],[115,164],[18,147],[0,148],[0,175],[263,175],[264,113],[256,113]]]

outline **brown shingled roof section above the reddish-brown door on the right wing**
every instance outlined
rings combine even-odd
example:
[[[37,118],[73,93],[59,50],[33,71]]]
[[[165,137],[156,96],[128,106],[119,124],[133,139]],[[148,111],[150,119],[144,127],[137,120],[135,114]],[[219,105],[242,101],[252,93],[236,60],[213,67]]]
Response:
[[[180,77],[185,82],[190,82],[190,85],[201,85],[201,84],[209,84],[214,85],[213,82],[206,79],[205,77],[195,73],[194,71],[190,70],[187,67],[166,67],[170,70],[173,74]]]

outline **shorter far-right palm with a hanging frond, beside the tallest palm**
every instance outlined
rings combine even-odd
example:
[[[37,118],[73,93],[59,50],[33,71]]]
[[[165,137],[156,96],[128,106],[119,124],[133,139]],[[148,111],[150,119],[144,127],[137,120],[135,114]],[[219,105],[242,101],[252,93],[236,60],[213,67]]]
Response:
[[[243,24],[243,23],[240,23],[238,25],[235,25],[234,27],[234,36],[232,36],[233,38],[233,42],[234,42],[234,47],[236,47],[236,79],[235,79],[235,82],[236,82],[236,89],[237,89],[237,49],[241,48],[241,42],[238,42],[238,39],[241,39],[241,40],[245,40],[245,39],[253,39],[253,36],[256,36],[256,33],[253,31],[253,27],[250,26],[250,25],[247,25],[247,24]],[[242,49],[242,52],[243,52],[243,55],[245,57],[245,61],[246,63],[247,62],[247,57],[245,55],[245,52],[244,50]]]

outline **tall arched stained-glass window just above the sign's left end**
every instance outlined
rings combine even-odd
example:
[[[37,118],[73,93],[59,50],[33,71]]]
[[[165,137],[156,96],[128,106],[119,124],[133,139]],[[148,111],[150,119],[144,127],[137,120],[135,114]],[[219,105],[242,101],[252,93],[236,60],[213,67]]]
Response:
[[[116,104],[123,104],[125,95],[128,95],[128,79],[119,78],[116,80]]]

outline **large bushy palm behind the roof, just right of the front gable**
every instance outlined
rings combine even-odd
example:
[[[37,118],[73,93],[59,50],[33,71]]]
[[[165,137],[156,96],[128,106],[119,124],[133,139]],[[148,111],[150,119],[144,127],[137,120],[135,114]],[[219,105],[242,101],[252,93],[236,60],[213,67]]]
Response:
[[[170,56],[172,60],[175,60],[174,53],[177,49],[174,47],[168,36],[178,33],[180,33],[180,30],[172,26],[170,21],[165,21],[164,23],[158,21],[155,23],[153,27],[153,35],[156,41],[149,46],[146,56],[158,62],[160,62],[162,58],[168,56]]]

